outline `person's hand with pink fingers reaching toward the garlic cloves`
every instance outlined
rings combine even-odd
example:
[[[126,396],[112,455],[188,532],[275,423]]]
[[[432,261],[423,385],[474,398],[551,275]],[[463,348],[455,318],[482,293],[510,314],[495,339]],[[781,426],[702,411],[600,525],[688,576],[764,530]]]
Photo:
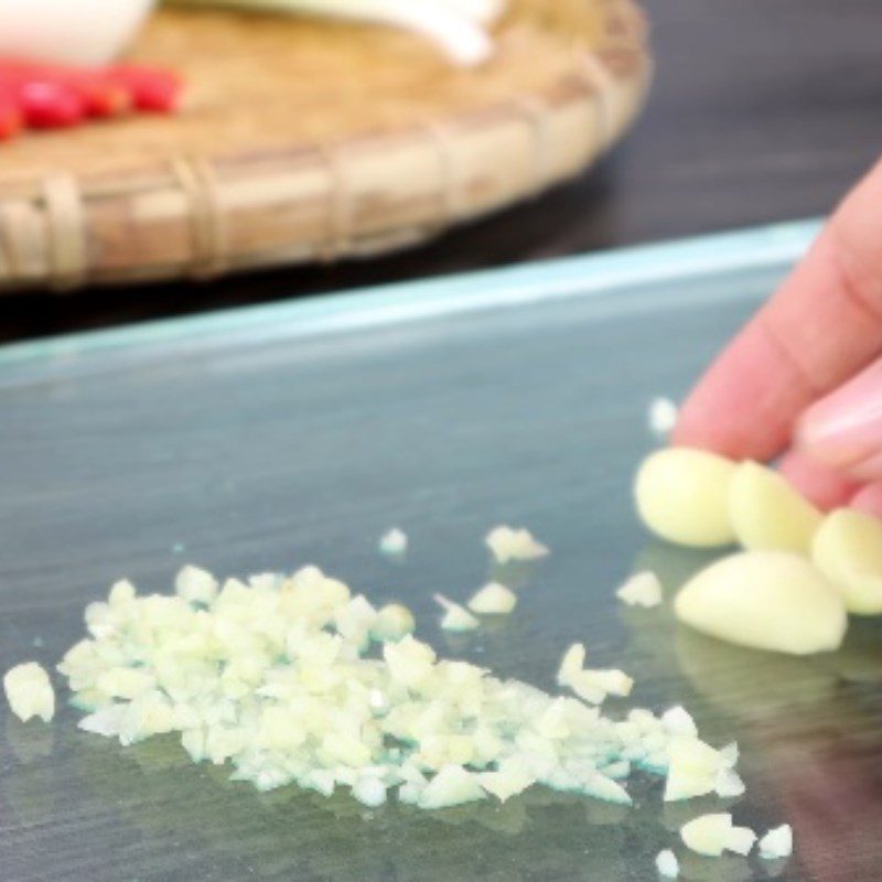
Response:
[[[673,440],[783,456],[820,507],[882,515],[882,162],[711,365]]]

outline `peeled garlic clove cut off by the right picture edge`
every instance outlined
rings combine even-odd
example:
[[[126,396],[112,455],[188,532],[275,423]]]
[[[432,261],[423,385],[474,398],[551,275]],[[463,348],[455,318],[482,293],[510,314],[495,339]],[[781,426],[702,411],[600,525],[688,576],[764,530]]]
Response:
[[[882,613],[882,523],[852,508],[828,515],[815,534],[815,566],[857,615]]]

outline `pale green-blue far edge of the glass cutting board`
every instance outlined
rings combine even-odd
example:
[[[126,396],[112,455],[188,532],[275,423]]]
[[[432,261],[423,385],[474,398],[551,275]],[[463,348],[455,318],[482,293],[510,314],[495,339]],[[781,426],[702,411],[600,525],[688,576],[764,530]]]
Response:
[[[624,287],[786,266],[808,247],[820,219],[632,246],[337,294],[305,295],[183,318],[0,346],[0,369],[39,369],[58,359],[137,352],[168,344],[303,337],[386,326],[478,310],[592,297]]]

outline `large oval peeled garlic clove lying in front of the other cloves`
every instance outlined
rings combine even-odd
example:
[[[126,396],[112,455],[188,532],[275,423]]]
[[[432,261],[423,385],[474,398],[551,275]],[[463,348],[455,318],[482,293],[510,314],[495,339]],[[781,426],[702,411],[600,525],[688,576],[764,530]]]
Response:
[[[848,626],[836,589],[787,551],[746,551],[712,563],[684,585],[674,610],[712,637],[792,655],[837,649]]]

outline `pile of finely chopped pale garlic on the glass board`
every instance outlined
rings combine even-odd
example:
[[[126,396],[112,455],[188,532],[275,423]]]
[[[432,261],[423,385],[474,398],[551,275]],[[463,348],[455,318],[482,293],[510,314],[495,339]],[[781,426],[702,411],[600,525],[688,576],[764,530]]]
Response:
[[[377,611],[315,567],[223,587],[186,567],[174,596],[118,582],[85,620],[89,637],[58,665],[80,729],[123,745],[176,733],[194,762],[229,763],[261,790],[346,787],[378,806],[397,789],[434,809],[544,784],[628,804],[633,770],[670,765],[666,798],[686,798],[719,788],[736,759],[682,709],[613,720],[438,658],[406,607]],[[584,647],[568,658],[561,679],[592,702],[630,691],[621,671],[585,670]]]

